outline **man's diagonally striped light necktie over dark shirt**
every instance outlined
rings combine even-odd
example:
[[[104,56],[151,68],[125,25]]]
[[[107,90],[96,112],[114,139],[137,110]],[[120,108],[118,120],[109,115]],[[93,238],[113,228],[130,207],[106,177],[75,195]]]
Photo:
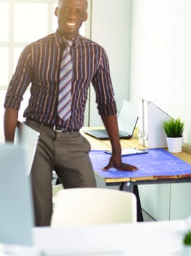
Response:
[[[72,42],[65,40],[66,48],[63,50],[60,81],[58,92],[58,116],[66,121],[71,116],[71,80],[72,80],[72,61],[70,48]]]

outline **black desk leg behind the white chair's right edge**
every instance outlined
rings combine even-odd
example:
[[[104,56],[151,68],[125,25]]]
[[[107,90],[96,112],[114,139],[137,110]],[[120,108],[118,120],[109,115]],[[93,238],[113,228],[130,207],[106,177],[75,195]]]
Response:
[[[142,209],[141,209],[141,200],[139,197],[139,190],[137,185],[133,185],[132,182],[125,182],[122,183],[120,186],[120,190],[123,191],[128,191],[128,192],[133,192],[133,194],[136,195],[136,200],[137,200],[137,221],[138,222],[143,222],[143,214],[142,214]]]

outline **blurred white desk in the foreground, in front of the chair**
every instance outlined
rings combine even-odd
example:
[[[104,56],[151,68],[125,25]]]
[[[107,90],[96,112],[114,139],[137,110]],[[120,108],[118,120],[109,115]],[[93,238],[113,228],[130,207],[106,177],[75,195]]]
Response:
[[[48,252],[84,252],[83,256],[92,255],[87,252],[122,251],[123,256],[170,256],[179,255],[186,230],[184,220],[87,227],[35,227],[34,246]]]

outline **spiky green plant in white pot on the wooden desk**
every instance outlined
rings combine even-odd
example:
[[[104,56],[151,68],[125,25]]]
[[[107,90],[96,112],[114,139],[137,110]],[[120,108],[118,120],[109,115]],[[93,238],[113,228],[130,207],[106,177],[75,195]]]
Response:
[[[163,129],[166,134],[168,151],[179,153],[182,151],[184,121],[180,118],[169,118],[163,121]]]

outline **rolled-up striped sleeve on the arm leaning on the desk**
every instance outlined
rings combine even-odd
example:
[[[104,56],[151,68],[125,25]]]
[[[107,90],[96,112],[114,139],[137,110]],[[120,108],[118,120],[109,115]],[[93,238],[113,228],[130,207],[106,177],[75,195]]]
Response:
[[[101,59],[98,69],[92,80],[95,89],[98,113],[101,116],[112,116],[117,113],[114,99],[114,89],[109,69],[109,60],[104,48],[101,50]]]

